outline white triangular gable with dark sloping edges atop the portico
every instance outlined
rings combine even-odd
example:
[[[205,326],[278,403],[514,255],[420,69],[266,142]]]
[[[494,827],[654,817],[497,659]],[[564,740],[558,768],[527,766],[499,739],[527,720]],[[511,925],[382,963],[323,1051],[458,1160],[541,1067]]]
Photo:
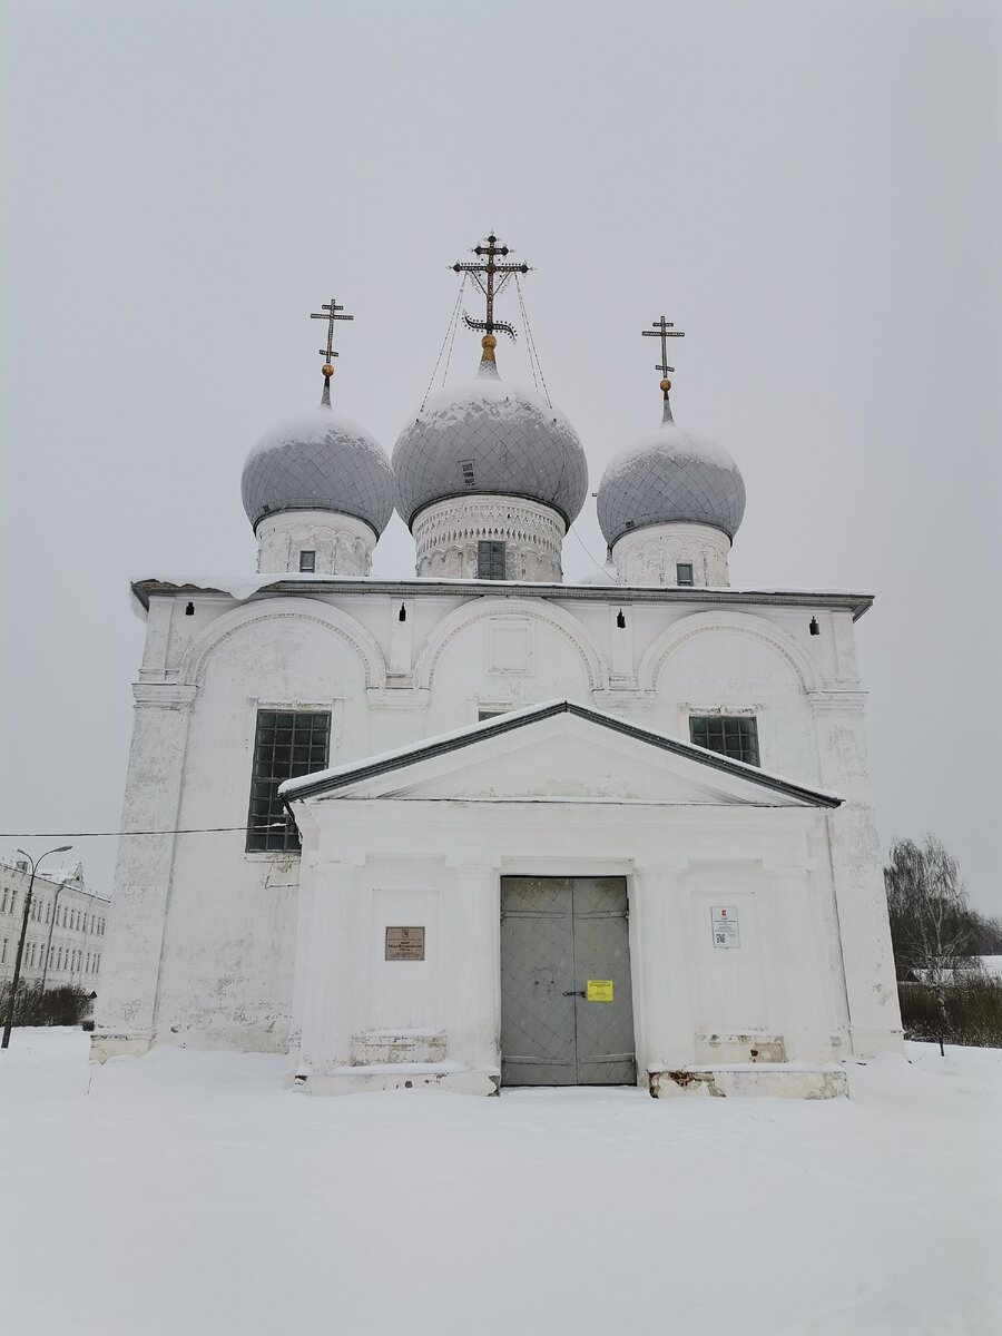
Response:
[[[303,775],[287,780],[279,792],[286,803],[349,796],[794,807],[842,802],[566,700]]]

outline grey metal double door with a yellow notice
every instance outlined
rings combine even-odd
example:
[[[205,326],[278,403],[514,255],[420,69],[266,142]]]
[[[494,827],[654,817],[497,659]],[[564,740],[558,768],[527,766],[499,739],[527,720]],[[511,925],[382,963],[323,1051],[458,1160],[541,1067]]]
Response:
[[[501,1083],[635,1082],[624,878],[502,876]]]

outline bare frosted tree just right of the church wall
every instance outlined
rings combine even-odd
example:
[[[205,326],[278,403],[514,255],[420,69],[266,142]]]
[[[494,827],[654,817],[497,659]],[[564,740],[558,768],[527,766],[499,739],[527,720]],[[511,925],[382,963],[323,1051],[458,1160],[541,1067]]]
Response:
[[[921,846],[898,840],[883,878],[898,977],[911,975],[933,990],[945,1033],[947,989],[958,970],[970,967],[971,950],[971,912],[957,859],[935,835]]]

